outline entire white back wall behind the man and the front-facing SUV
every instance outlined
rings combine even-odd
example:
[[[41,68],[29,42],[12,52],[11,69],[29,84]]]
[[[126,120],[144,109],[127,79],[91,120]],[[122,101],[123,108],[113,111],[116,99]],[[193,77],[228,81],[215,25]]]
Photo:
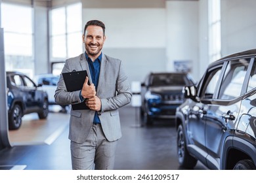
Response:
[[[103,51],[123,60],[131,81],[144,80],[150,71],[174,71],[173,61],[184,60],[192,62],[192,76],[198,78],[198,1],[159,1],[155,8],[154,0],[114,1],[82,1],[83,25],[93,19],[106,24]]]

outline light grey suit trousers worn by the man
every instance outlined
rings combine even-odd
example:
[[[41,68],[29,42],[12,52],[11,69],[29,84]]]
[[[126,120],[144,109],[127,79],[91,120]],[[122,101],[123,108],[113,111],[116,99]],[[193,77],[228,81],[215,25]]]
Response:
[[[93,124],[83,143],[71,141],[72,169],[114,169],[117,141],[107,141],[100,124]]]

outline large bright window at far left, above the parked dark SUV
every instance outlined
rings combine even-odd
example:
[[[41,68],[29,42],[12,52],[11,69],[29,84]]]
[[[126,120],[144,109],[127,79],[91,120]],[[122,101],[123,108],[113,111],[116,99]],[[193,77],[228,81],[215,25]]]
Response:
[[[33,73],[33,9],[31,6],[1,3],[7,71]]]

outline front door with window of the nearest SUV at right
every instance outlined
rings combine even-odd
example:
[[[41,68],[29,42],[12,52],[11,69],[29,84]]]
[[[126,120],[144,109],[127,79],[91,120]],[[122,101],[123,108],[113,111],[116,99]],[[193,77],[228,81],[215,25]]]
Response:
[[[205,158],[207,157],[207,149],[205,148],[205,114],[208,104],[213,100],[222,67],[223,63],[220,63],[205,73],[198,86],[199,102],[190,105],[188,136],[195,146],[191,146],[190,151],[194,148],[193,153],[202,162],[205,162]]]

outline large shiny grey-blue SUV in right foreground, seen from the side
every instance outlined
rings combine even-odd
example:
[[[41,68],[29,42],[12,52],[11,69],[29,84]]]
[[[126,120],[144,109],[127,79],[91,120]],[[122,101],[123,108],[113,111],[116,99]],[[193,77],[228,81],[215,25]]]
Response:
[[[209,65],[177,108],[181,167],[256,169],[256,49]]]

